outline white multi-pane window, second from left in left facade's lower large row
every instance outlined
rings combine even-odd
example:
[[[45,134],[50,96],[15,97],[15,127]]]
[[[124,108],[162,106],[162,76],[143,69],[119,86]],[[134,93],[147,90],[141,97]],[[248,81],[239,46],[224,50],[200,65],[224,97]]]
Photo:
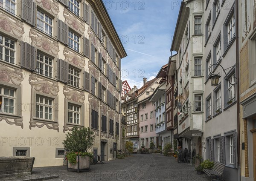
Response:
[[[35,117],[52,120],[53,99],[36,96]]]

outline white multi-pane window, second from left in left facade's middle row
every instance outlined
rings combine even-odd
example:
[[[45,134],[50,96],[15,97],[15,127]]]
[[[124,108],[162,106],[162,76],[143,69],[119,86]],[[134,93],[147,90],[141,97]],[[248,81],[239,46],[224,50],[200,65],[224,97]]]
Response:
[[[47,77],[52,77],[52,58],[37,52],[36,72]]]

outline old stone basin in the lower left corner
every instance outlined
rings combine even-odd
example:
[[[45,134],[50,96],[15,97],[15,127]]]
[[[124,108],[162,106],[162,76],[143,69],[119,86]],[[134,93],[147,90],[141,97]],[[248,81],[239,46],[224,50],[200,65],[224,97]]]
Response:
[[[31,175],[35,157],[0,157],[0,178]]]

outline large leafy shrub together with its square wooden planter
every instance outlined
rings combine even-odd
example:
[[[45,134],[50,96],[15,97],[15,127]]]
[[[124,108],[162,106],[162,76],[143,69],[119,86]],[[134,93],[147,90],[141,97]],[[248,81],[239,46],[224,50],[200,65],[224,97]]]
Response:
[[[64,149],[68,150],[67,170],[76,169],[90,170],[90,159],[93,158],[93,153],[88,152],[94,143],[94,132],[89,127],[73,127],[71,132],[66,134],[66,139],[62,144]]]

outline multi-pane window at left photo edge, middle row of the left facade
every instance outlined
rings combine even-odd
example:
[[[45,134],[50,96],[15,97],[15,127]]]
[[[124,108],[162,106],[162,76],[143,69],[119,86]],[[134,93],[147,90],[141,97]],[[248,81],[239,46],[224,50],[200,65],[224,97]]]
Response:
[[[0,59],[14,63],[15,41],[0,35]]]

